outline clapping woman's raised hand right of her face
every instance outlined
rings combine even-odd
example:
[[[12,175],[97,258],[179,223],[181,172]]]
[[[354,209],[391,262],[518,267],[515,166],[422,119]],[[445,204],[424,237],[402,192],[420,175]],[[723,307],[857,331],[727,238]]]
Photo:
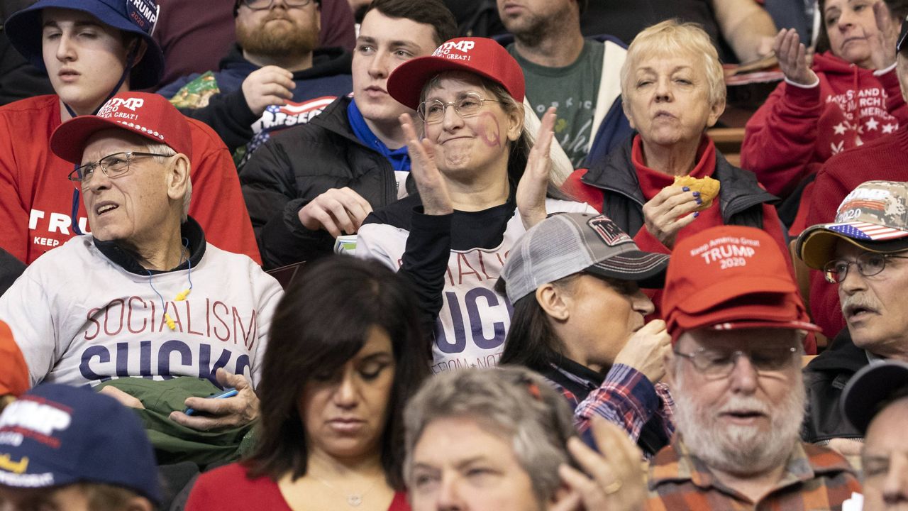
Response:
[[[552,159],[548,156],[548,150],[555,136],[557,118],[554,106],[549,107],[542,116],[536,144],[529,151],[527,168],[517,185],[517,209],[526,229],[546,219],[546,190],[552,172]]]

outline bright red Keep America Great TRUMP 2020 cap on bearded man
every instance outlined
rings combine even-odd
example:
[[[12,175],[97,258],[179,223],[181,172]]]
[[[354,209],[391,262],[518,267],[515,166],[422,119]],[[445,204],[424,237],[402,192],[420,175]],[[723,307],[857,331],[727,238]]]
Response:
[[[785,255],[754,227],[720,225],[675,245],[662,311],[673,343],[704,327],[820,331],[808,320]]]

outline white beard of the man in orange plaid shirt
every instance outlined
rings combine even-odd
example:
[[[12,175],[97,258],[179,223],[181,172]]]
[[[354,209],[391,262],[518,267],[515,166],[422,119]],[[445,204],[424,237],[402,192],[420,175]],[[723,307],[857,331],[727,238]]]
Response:
[[[675,422],[691,454],[706,465],[733,474],[748,476],[783,465],[791,456],[795,442],[800,441],[804,420],[804,379],[797,378],[794,388],[775,409],[754,396],[735,396],[722,406],[706,403],[698,406],[678,378],[672,389],[676,402]],[[770,417],[770,430],[757,426],[719,426],[723,409],[745,407],[761,410]]]

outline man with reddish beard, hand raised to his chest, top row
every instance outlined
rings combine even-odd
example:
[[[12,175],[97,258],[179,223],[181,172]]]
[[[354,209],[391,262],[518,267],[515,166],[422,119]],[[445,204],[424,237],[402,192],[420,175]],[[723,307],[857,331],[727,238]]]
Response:
[[[350,54],[316,49],[320,6],[321,0],[236,0],[237,45],[221,69],[183,76],[158,94],[212,126],[231,151],[253,135],[251,148],[272,129],[306,122],[352,86]]]

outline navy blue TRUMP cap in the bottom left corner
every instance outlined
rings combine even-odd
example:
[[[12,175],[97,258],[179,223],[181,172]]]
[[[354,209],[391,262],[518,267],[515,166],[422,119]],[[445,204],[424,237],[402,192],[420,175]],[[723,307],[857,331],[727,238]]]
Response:
[[[161,502],[153,447],[138,416],[87,387],[35,386],[0,415],[0,486],[79,482]]]

